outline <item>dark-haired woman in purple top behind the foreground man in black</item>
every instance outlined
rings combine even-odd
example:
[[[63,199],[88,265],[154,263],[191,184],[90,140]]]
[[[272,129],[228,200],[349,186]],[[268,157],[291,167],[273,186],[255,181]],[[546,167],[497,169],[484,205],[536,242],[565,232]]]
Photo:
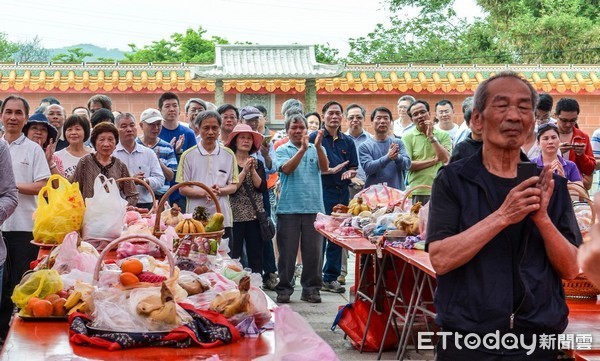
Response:
[[[583,187],[581,174],[577,169],[577,165],[558,154],[560,143],[558,127],[552,123],[540,125],[537,132],[537,140],[542,153],[537,158],[534,158],[533,162],[537,163],[538,167],[550,164],[554,173],[567,178],[569,182]]]

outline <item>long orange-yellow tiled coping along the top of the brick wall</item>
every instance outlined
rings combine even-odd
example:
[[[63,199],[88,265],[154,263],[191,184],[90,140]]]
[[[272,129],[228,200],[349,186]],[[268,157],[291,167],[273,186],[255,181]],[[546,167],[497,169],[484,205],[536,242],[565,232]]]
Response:
[[[215,80],[192,76],[197,64],[0,64],[2,92],[189,92],[211,93]],[[471,93],[491,74],[515,70],[539,91],[600,94],[600,66],[592,65],[347,65],[337,77],[317,77],[317,93]],[[225,92],[304,92],[294,77],[225,79]]]

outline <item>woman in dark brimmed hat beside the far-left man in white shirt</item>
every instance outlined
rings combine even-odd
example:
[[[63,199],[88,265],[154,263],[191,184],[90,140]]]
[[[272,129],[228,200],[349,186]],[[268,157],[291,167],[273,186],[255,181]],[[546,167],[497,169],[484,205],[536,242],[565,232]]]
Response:
[[[35,113],[29,117],[23,127],[23,134],[42,147],[46,153],[46,161],[52,174],[65,174],[62,160],[54,154],[58,132],[44,114]]]

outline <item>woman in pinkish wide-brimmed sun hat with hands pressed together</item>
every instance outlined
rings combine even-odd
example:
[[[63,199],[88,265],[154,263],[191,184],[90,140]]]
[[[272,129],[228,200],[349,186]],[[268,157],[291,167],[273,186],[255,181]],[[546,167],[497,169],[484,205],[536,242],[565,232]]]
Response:
[[[248,262],[244,267],[259,274],[263,270],[263,240],[256,213],[264,212],[262,193],[267,189],[267,180],[263,163],[252,154],[260,149],[262,141],[262,134],[253,131],[249,125],[238,124],[225,143],[235,153],[239,171],[237,191],[229,197],[233,213],[231,258],[241,259],[245,244]]]

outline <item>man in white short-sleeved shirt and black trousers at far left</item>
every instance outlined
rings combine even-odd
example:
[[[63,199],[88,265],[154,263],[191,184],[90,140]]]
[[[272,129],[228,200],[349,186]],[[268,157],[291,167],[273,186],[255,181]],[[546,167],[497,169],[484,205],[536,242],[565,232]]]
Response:
[[[4,268],[4,290],[0,308],[0,337],[6,337],[12,316],[13,303],[10,299],[14,287],[19,284],[29,263],[37,259],[38,248],[33,240],[33,212],[37,208],[37,194],[50,177],[50,168],[42,147],[29,140],[23,126],[29,118],[29,103],[17,95],[10,95],[0,107],[4,124],[3,139],[8,143],[15,182],[19,191],[19,204],[12,216],[2,224],[2,235],[6,243],[6,265]]]

